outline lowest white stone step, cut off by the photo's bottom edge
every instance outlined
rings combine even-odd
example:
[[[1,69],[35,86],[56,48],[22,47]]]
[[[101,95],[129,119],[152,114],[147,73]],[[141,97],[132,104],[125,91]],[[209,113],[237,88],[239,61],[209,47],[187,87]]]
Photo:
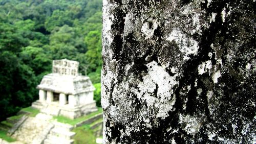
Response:
[[[56,144],[56,143],[73,144],[74,139],[63,139],[58,136],[48,135],[47,139],[44,140],[44,144]]]

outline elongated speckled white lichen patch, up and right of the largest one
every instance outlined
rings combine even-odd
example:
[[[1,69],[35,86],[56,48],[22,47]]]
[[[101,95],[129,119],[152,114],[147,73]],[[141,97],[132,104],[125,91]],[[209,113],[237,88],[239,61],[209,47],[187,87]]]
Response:
[[[197,55],[199,45],[196,40],[186,36],[181,30],[174,29],[172,33],[166,38],[168,41],[175,41],[182,53],[184,53],[183,60],[188,60],[189,55]]]

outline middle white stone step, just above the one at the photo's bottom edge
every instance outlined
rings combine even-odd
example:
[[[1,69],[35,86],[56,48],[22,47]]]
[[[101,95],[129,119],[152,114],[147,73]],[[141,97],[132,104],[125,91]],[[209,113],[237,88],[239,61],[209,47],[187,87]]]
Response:
[[[72,139],[75,134],[76,134],[75,132],[63,131],[62,128],[53,128],[50,132],[50,135],[58,136],[63,139]]]

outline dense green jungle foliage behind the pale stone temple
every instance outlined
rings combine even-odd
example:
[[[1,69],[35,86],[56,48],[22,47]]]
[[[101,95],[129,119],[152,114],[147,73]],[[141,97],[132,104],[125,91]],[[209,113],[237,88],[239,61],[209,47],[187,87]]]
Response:
[[[0,0],[0,120],[38,99],[55,59],[79,61],[100,88],[101,10],[102,0]]]

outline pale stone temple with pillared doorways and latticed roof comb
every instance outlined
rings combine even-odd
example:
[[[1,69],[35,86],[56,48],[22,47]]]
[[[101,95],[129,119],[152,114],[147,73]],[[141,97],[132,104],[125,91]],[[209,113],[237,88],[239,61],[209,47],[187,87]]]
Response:
[[[79,62],[54,60],[52,73],[44,76],[37,89],[39,100],[33,108],[42,113],[76,118],[97,110],[90,78],[78,74]]]

